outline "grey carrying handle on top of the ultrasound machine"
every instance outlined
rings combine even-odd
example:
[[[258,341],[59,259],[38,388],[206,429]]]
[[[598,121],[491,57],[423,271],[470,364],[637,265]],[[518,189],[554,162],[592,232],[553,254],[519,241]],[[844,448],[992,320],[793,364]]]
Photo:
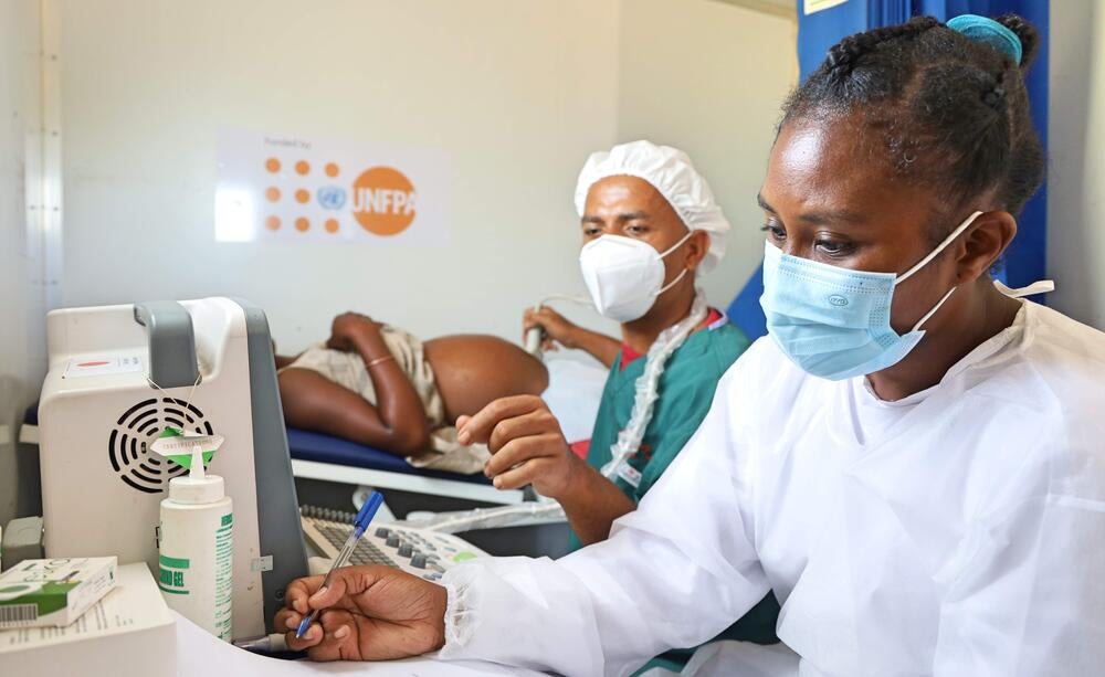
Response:
[[[135,304],[135,321],[149,339],[149,380],[159,388],[183,388],[199,379],[192,316],[175,300]]]

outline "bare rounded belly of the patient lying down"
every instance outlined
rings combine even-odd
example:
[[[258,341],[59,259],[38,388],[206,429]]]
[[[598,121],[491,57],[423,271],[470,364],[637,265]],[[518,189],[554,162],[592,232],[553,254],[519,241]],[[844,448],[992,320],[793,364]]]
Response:
[[[498,398],[540,394],[548,385],[548,371],[539,360],[498,337],[443,336],[423,347],[450,423]]]

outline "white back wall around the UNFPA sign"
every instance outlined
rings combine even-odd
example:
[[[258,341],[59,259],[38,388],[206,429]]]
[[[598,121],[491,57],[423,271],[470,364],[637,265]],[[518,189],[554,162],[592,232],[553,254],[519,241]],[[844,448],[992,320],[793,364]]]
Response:
[[[713,0],[56,7],[65,305],[240,295],[266,308],[284,351],[350,308],[428,337],[514,339],[523,307],[583,289],[571,205],[583,159],[642,135],[691,151],[753,233],[712,276],[717,304],[759,255],[739,250],[758,240],[745,221],[792,81],[781,19]],[[443,148],[453,245],[215,243],[223,127]]]

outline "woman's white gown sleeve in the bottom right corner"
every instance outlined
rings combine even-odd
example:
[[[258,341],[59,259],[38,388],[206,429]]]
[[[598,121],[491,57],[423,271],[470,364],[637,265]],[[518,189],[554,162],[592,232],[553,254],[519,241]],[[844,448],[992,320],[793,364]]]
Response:
[[[1041,493],[968,536],[972,554],[948,582],[940,610],[934,675],[1102,673],[1105,500],[1098,497]]]

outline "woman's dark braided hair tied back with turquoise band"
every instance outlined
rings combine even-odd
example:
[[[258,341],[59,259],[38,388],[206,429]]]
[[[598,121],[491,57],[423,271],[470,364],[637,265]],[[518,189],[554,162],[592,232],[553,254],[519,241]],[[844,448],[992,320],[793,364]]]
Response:
[[[845,38],[790,95],[779,128],[859,116],[864,144],[894,176],[933,188],[958,211],[992,191],[1017,215],[1043,181],[1023,77],[1040,41],[1015,14],[996,21],[1020,39],[1020,63],[930,17]]]

